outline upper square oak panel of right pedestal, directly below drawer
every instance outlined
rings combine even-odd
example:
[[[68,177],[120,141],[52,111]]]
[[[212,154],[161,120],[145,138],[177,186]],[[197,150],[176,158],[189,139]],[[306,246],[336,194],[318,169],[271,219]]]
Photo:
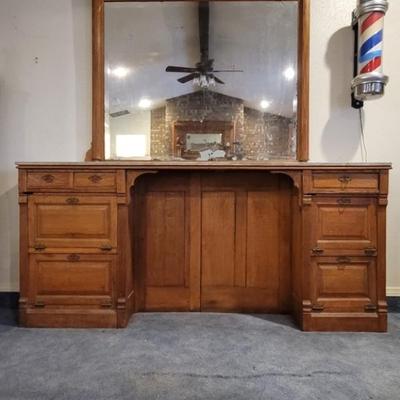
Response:
[[[365,255],[376,249],[376,200],[330,197],[313,202],[312,246],[323,255]]]

